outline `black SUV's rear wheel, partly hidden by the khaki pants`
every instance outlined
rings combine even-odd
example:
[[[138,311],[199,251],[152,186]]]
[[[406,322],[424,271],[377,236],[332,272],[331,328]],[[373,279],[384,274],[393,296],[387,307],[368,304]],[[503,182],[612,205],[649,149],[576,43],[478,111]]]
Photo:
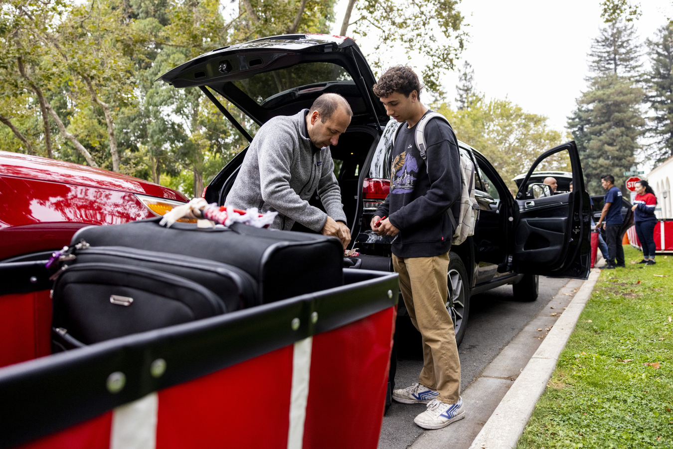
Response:
[[[470,311],[470,285],[467,271],[460,256],[455,252],[449,253],[449,269],[447,273],[448,297],[446,310],[451,315],[456,332],[456,345],[460,345],[467,328],[467,317]]]

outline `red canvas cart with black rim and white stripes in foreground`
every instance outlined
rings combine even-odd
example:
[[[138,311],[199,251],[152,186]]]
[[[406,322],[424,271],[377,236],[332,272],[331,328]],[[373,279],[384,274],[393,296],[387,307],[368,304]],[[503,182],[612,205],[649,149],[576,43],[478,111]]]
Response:
[[[396,274],[53,355],[48,274],[0,263],[0,448],[376,448]]]

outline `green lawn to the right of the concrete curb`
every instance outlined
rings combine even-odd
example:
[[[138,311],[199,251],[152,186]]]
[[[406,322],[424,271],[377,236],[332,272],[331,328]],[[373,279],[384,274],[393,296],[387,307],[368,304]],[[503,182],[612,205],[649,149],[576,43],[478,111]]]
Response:
[[[643,267],[624,250],[627,268],[601,273],[518,449],[673,448],[673,256]]]

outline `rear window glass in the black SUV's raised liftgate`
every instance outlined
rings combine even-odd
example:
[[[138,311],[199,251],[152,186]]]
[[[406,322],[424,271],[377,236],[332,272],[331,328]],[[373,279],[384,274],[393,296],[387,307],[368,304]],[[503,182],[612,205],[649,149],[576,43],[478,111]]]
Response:
[[[355,86],[346,69],[332,63],[297,64],[233,81],[237,88],[266,108],[273,107],[275,102],[284,103],[285,96],[294,97],[311,90],[321,90],[330,82]]]

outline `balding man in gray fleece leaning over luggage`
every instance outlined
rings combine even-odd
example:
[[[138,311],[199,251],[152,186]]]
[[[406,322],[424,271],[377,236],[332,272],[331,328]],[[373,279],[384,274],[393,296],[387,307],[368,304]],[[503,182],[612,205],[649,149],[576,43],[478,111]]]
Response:
[[[277,211],[269,228],[290,230],[296,221],[339,238],[346,248],[351,232],[329,145],[336,145],[351,116],[342,96],[322,94],[310,109],[264,123],[250,143],[225,205]],[[316,189],[327,213],[308,203]]]

